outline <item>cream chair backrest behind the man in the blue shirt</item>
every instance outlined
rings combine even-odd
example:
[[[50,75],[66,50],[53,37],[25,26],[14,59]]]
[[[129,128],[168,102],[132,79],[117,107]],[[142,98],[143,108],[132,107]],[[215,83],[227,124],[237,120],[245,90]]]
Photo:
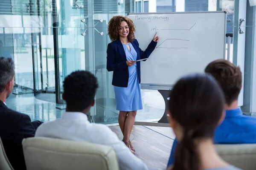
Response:
[[[256,169],[256,144],[215,144],[224,161],[242,170]]]

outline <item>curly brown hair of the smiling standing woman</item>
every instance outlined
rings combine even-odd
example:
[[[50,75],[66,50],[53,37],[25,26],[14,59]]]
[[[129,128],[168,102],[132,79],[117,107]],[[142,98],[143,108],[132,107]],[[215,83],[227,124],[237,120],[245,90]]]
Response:
[[[119,38],[119,26],[121,22],[125,21],[129,27],[129,34],[127,36],[129,42],[133,42],[135,39],[135,26],[131,19],[123,16],[115,16],[111,18],[108,23],[108,35],[111,41],[115,41]]]

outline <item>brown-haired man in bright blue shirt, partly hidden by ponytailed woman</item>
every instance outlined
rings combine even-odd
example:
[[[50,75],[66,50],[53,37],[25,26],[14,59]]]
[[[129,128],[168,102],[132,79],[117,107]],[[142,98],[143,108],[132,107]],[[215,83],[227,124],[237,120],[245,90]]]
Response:
[[[215,131],[214,143],[256,143],[256,118],[243,115],[238,108],[238,96],[242,87],[240,68],[228,60],[218,59],[209,63],[204,71],[218,81],[226,99],[226,116]],[[175,139],[167,166],[174,163],[177,143]]]

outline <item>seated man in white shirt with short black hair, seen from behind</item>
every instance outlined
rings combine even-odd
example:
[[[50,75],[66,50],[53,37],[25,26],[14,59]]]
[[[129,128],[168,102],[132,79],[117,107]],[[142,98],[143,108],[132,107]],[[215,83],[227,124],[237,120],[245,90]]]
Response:
[[[62,98],[67,102],[61,119],[38,127],[35,136],[84,141],[112,146],[121,170],[148,170],[106,125],[90,123],[87,113],[95,103],[96,77],[88,71],[75,71],[64,80]]]

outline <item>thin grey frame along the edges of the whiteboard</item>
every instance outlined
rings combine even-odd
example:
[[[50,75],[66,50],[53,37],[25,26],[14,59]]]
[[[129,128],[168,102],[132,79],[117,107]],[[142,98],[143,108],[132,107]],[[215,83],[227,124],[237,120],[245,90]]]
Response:
[[[128,13],[129,15],[143,15],[143,14],[195,14],[195,13],[224,13],[225,14],[225,23],[224,23],[224,51],[223,59],[226,58],[226,32],[227,32],[227,12],[226,11],[192,11],[192,12],[146,12],[146,13]],[[174,85],[163,85],[163,84],[140,84],[141,89],[148,90],[172,90]]]

